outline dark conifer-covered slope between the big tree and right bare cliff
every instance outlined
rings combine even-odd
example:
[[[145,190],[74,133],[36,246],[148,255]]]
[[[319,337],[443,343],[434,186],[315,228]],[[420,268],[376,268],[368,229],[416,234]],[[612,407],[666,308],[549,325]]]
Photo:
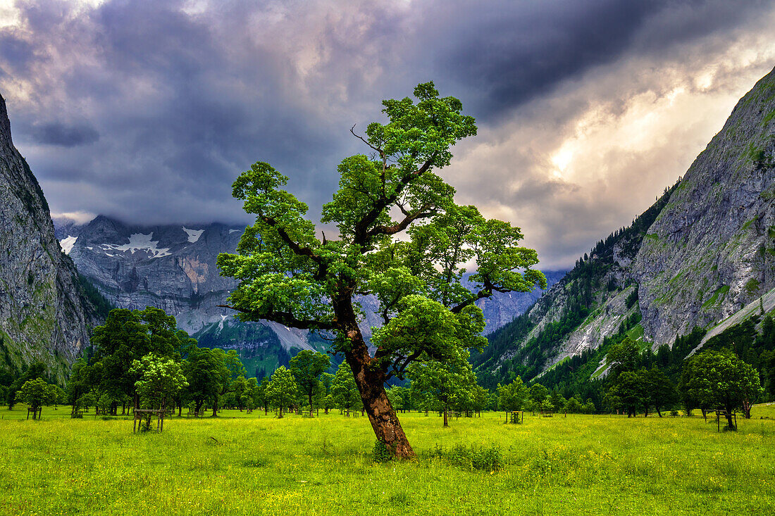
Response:
[[[508,380],[511,372],[525,379],[536,377],[568,356],[597,348],[623,324],[637,325],[638,290],[629,268],[675,187],[629,228],[598,242],[528,311],[487,335],[489,346],[472,356],[485,384]]]

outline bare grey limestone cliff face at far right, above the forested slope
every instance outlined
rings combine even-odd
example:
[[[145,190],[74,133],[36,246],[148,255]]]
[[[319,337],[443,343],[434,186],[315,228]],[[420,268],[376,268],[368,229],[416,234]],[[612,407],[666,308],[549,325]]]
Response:
[[[775,287],[775,71],[692,163],[631,273],[655,345],[714,325]]]

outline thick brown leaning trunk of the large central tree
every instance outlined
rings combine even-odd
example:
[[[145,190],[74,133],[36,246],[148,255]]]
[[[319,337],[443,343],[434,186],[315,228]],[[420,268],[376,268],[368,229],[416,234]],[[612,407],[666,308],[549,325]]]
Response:
[[[355,321],[353,314],[353,322]],[[360,391],[360,399],[363,400],[363,410],[369,416],[371,428],[377,440],[383,442],[387,449],[391,450],[399,459],[412,459],[416,456],[415,450],[406,439],[404,429],[398,421],[387,393],[384,389],[386,374],[376,360],[369,355],[366,343],[357,325],[348,333],[353,343],[352,349],[345,353],[347,363],[353,370],[355,384]]]

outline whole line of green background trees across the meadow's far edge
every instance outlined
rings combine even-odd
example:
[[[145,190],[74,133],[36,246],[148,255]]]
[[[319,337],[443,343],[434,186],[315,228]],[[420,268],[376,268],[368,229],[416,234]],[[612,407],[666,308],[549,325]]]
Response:
[[[749,417],[750,406],[763,389],[759,373],[727,346],[729,342],[736,349],[753,346],[761,352],[757,355],[760,361],[767,364],[772,352],[764,339],[772,339],[775,324],[768,317],[760,335],[753,329],[750,339],[744,339],[756,322],[754,318],[711,339],[706,350],[680,366],[673,353],[692,349],[701,332],[679,338],[673,349],[663,346],[655,354],[650,349],[641,352],[623,327],[623,338],[606,346],[608,375],[598,382],[605,386],[601,408],[629,416],[656,411],[660,417],[663,410],[677,406],[689,412],[720,408],[733,428],[732,411],[742,409]],[[288,408],[305,408],[310,415],[315,408],[327,412],[336,407],[348,415],[363,410],[347,363],[332,374],[328,372],[329,356],[304,350],[290,360],[288,368],[279,368],[258,384],[255,378],[246,378],[234,351],[199,348],[194,339],[177,330],[174,318],[156,308],[112,311],[105,325],[95,329],[92,342],[94,346],[74,364],[67,391],[47,382],[45,366],[33,363],[18,377],[0,370],[0,394],[10,408],[17,402],[28,404],[33,418],[41,406],[53,403],[70,403],[74,411],[95,406],[106,414],[116,414],[119,406],[124,412],[129,406],[141,405],[180,411],[188,405],[197,414],[207,406],[213,415],[220,407],[248,411],[263,407],[267,412],[278,408],[280,416]],[[438,411],[445,426],[450,411],[467,415],[498,409],[588,413],[599,407],[591,397],[586,401],[579,394],[566,398],[558,387],[528,387],[520,377],[498,384],[491,393],[477,384],[467,360],[418,360],[407,368],[406,377],[410,380],[406,386],[388,390],[391,405],[401,411]]]

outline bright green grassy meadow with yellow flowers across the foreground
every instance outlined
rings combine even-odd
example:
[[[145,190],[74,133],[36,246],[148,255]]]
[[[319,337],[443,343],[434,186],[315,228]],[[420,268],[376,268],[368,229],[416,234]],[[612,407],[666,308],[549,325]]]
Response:
[[[445,429],[404,414],[407,463],[374,463],[367,418],[338,411],[224,411],[136,435],[131,419],[68,415],[0,408],[0,514],[775,513],[775,405],[721,433],[699,416],[490,413]],[[502,468],[455,462],[455,445],[497,447]]]

